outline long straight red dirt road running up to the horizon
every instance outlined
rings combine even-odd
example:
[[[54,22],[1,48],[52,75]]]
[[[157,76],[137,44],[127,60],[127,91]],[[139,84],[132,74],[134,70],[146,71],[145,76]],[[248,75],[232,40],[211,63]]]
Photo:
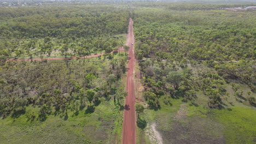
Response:
[[[134,67],[135,56],[133,51],[134,36],[133,36],[133,21],[130,18],[128,35],[126,39],[126,45],[129,49],[129,62],[126,79],[126,91],[128,95],[125,99],[124,119],[123,119],[123,144],[135,144],[136,143],[136,118],[135,118],[135,80],[134,80]]]

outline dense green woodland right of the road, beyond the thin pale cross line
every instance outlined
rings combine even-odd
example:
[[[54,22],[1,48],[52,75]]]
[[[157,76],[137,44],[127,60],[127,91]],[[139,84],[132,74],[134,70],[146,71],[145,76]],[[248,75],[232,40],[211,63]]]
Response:
[[[138,59],[255,59],[255,11],[146,8],[133,15]]]

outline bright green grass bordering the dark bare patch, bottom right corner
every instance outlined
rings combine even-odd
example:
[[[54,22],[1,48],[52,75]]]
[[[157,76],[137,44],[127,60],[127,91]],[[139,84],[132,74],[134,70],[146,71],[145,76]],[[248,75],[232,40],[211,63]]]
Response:
[[[206,109],[189,106],[189,117],[211,118],[223,124],[226,143],[254,143],[256,136],[256,111],[250,107],[232,106],[228,109]]]

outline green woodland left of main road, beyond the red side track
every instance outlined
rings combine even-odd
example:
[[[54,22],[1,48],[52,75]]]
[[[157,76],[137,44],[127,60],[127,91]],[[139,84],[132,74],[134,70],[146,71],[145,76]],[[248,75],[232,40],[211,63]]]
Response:
[[[71,57],[124,45],[127,8],[65,3],[0,9],[0,58]]]

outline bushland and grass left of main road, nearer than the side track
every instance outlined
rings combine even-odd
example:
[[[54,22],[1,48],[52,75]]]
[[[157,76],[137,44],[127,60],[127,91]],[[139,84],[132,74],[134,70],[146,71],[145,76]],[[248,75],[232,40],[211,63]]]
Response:
[[[5,62],[1,143],[120,142],[126,57]]]

